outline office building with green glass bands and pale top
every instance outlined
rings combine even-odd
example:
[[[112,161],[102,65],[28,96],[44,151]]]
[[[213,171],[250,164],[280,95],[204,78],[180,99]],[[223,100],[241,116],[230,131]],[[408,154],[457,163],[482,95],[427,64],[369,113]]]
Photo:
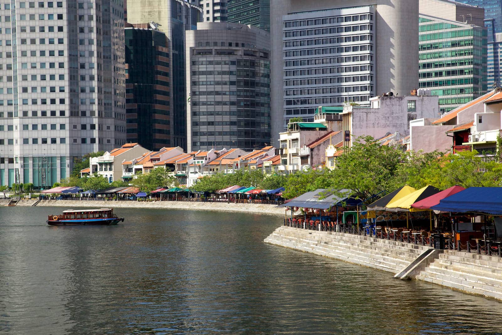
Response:
[[[481,8],[449,0],[420,1],[419,86],[439,96],[441,114],[486,91],[483,18]]]

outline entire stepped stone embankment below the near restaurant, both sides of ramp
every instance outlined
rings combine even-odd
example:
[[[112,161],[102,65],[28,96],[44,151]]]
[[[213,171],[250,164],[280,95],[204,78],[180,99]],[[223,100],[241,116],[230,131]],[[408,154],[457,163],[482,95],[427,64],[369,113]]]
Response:
[[[367,236],[282,226],[264,242],[388,271],[405,272],[429,247]],[[414,278],[502,300],[502,258],[456,250],[431,254]]]

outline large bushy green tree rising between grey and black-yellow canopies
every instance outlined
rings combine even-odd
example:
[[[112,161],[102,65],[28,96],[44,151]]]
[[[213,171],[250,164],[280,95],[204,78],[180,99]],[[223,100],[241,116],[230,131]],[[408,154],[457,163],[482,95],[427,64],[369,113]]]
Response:
[[[394,190],[400,186],[400,165],[404,159],[402,151],[381,146],[371,136],[360,136],[351,148],[344,147],[337,158],[332,187],[350,189],[351,195],[360,199]]]

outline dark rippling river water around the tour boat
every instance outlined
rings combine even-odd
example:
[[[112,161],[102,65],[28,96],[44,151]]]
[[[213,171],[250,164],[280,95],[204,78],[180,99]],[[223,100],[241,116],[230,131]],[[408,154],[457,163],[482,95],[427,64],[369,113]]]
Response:
[[[278,216],[0,207],[0,333],[487,334],[502,303],[263,243]]]

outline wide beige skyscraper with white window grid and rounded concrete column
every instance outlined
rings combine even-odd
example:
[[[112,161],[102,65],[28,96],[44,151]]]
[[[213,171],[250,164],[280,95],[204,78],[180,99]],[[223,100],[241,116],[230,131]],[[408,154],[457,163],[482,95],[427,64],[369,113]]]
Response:
[[[322,104],[418,87],[416,0],[277,0],[271,31],[272,134]]]

